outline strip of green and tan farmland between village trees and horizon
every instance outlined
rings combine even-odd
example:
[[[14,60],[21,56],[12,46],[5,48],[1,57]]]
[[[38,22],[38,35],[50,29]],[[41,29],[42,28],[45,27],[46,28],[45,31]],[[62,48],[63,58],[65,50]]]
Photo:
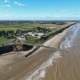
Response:
[[[14,30],[15,28],[31,29],[35,27],[56,27],[57,29],[61,29],[72,23],[74,22],[65,22],[65,24],[58,24],[58,22],[0,22],[0,30]]]

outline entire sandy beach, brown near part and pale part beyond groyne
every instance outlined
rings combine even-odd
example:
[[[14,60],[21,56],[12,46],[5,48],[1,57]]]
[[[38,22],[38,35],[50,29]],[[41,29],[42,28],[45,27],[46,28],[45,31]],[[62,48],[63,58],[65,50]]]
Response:
[[[46,41],[44,45],[58,48],[60,41],[63,39],[70,28]],[[1,55],[0,80],[25,80],[27,76],[32,74],[48,58],[50,58],[53,52],[56,52],[56,50],[40,47],[29,57],[24,57],[26,54],[28,54],[28,52],[12,52]]]

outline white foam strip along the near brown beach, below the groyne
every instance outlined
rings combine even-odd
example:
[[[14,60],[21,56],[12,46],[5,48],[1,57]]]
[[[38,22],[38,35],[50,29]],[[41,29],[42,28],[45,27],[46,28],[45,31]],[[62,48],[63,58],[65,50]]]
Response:
[[[46,69],[49,66],[53,65],[53,63],[56,62],[59,58],[61,58],[61,54],[59,51],[53,53],[46,62],[44,62],[35,72],[33,72],[25,80],[42,80],[42,78],[44,78],[46,75]]]

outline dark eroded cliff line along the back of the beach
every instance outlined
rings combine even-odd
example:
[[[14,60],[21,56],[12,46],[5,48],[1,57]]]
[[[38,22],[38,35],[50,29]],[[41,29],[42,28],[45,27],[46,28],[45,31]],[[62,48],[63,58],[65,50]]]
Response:
[[[69,24],[69,25],[66,25],[64,26],[63,28],[59,29],[58,31],[56,32],[53,32],[52,34],[46,36],[44,39],[41,39],[40,42],[42,42],[41,44],[36,44],[34,46],[40,46],[40,45],[43,45],[45,42],[47,42],[48,40],[52,39],[53,37],[55,37],[56,35],[62,33],[64,30],[66,30],[67,28],[69,28],[70,26],[74,25],[76,23],[72,23],[72,24]],[[25,52],[25,51],[28,51],[26,46],[33,46],[33,45],[28,45],[28,44],[16,44],[16,45],[8,45],[8,46],[3,46],[3,47],[0,47],[0,54],[5,54],[5,53],[9,53],[9,52]],[[34,47],[33,46],[33,47]],[[25,48],[25,50],[24,50]],[[5,49],[5,51],[4,51]],[[30,50],[31,51],[31,50]],[[28,51],[29,52],[29,51]]]

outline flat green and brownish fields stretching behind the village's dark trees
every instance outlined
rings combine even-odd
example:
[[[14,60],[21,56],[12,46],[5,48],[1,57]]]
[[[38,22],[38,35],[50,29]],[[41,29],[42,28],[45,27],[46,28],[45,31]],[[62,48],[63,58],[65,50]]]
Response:
[[[15,28],[20,28],[20,29],[32,29],[32,28],[35,28],[35,27],[55,27],[56,29],[61,29],[63,27],[66,27],[67,25],[70,25],[74,22],[66,22],[66,24],[63,24],[63,25],[58,25],[58,24],[42,24],[42,23],[24,23],[22,25],[20,24],[15,24],[15,25],[7,25],[5,27],[5,24],[2,26],[0,24],[0,31],[1,30],[5,30],[5,31],[8,31],[8,30],[14,30]]]

